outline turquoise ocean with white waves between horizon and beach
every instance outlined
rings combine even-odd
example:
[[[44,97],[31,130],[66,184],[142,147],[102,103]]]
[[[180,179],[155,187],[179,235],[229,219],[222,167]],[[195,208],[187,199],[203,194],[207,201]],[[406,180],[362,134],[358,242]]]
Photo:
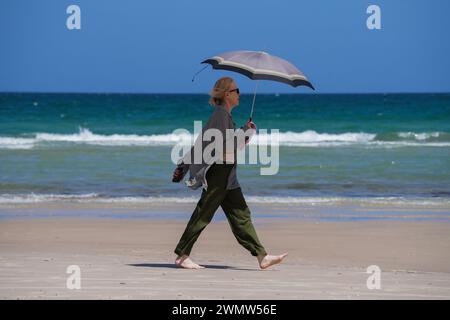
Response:
[[[2,93],[0,204],[196,202],[171,151],[212,110],[205,94]],[[279,130],[280,167],[239,164],[248,201],[450,203],[450,94],[259,94],[253,120]]]

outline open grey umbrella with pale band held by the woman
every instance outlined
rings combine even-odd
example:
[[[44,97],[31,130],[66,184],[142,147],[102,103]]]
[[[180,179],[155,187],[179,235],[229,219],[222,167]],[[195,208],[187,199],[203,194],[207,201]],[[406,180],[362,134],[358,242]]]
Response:
[[[238,72],[252,80],[272,80],[293,87],[307,86],[314,90],[311,82],[293,64],[264,51],[229,51],[206,59],[202,63],[211,65],[213,69]],[[258,81],[255,85],[250,120],[253,115],[257,88]]]

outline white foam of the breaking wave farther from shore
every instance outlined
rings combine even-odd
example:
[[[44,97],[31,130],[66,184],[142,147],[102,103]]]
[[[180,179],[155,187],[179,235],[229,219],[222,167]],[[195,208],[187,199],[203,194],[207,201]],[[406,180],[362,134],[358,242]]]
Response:
[[[280,146],[287,147],[338,147],[348,145],[362,145],[373,147],[404,147],[404,146],[431,146],[449,147],[450,142],[426,141],[429,138],[439,137],[440,132],[399,132],[398,141],[376,140],[376,134],[366,132],[346,133],[318,133],[313,130],[303,132],[280,132],[278,141]],[[197,135],[189,133],[167,133],[155,135],[112,134],[102,135],[92,133],[87,128],[80,128],[78,133],[56,134],[36,133],[26,137],[0,137],[0,149],[31,149],[36,146],[59,146],[61,144],[87,144],[100,146],[173,146],[175,144],[191,145]],[[411,141],[411,139],[413,139]],[[272,142],[271,133],[258,133],[250,144],[266,145]]]

